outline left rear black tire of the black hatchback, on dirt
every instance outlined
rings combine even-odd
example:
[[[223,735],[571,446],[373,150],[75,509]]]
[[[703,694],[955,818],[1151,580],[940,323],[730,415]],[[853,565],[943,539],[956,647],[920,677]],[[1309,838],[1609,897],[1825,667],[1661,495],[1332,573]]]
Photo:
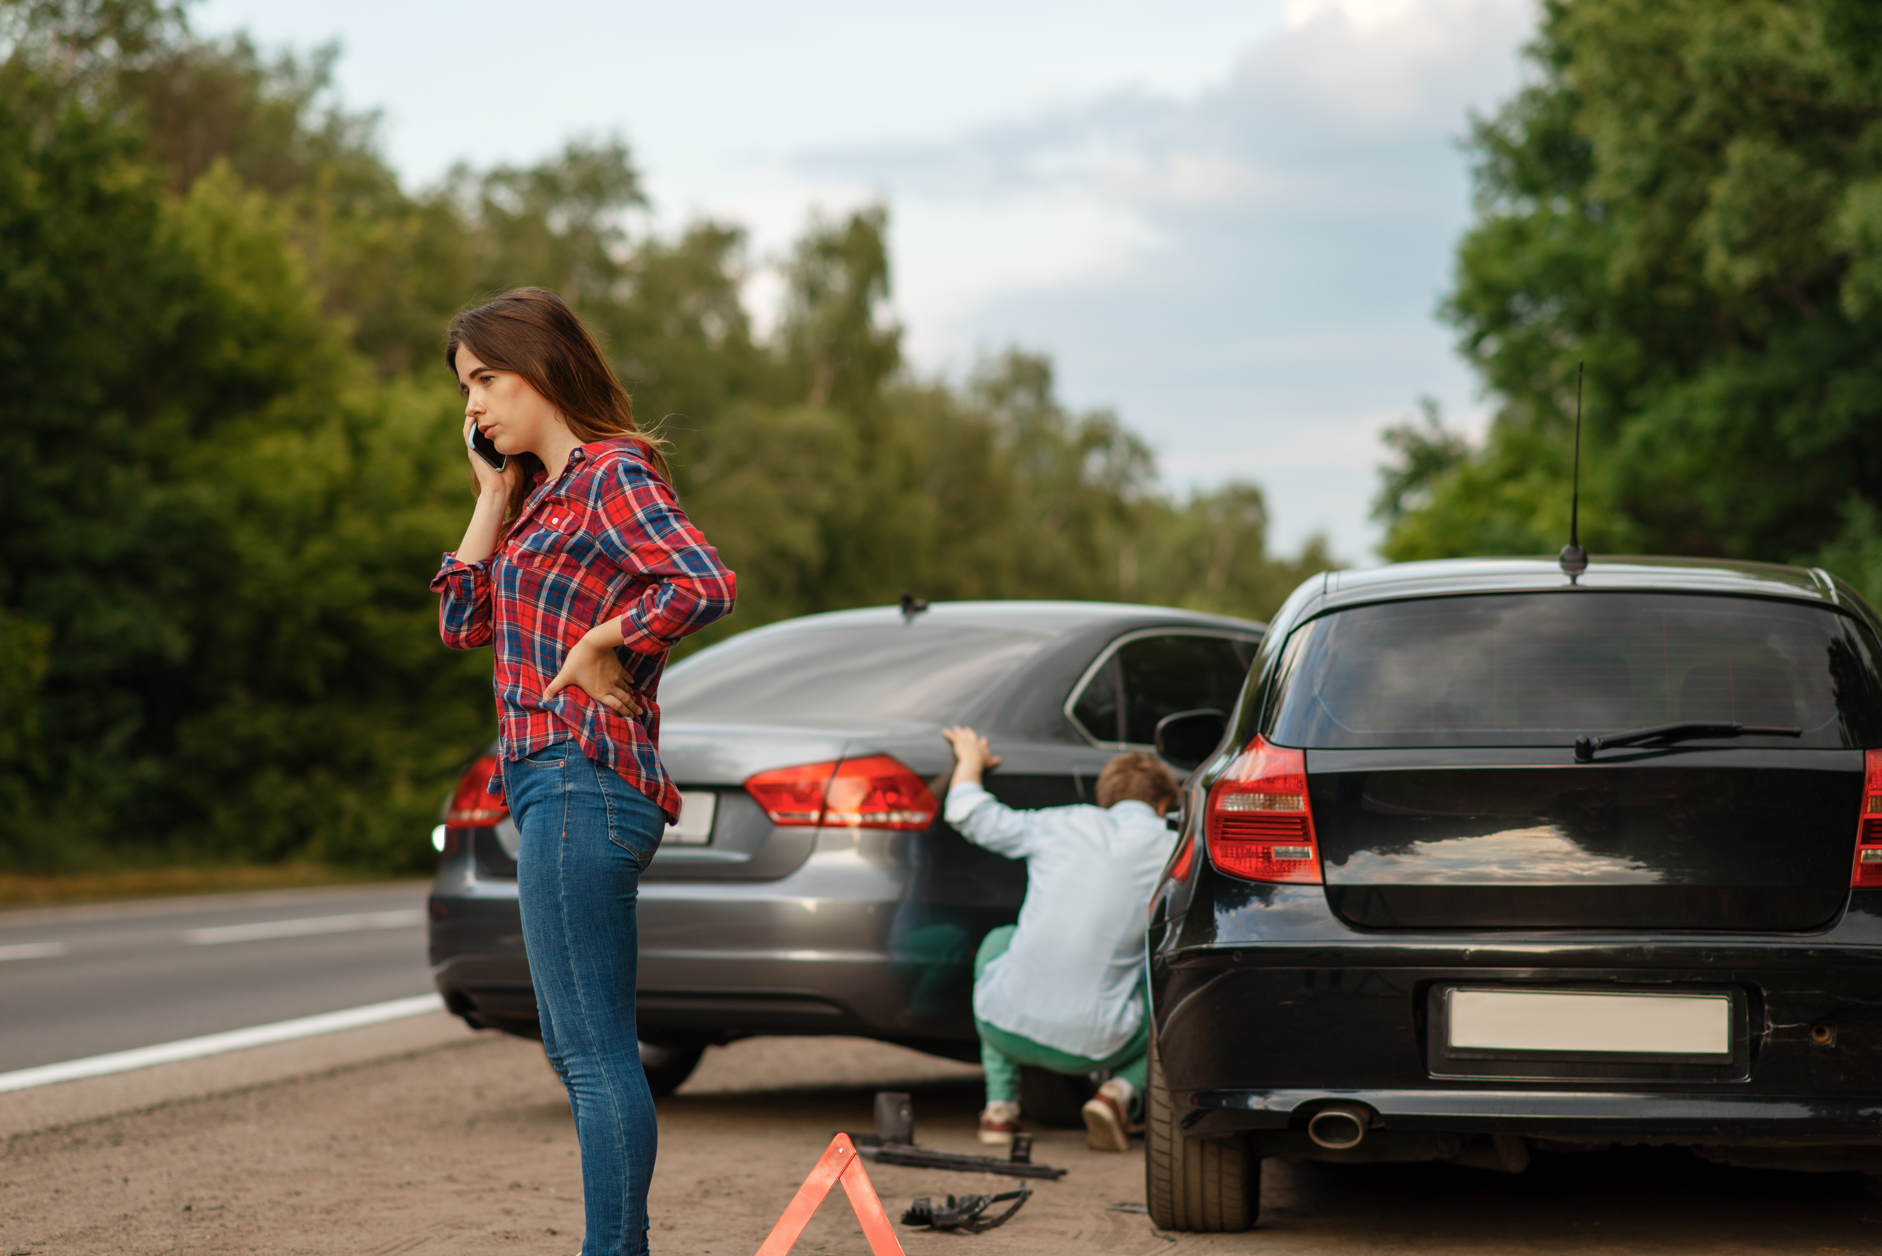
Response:
[[[1246,1136],[1184,1138],[1150,1034],[1144,1087],[1144,1203],[1157,1230],[1238,1233],[1261,1217],[1261,1156]]]

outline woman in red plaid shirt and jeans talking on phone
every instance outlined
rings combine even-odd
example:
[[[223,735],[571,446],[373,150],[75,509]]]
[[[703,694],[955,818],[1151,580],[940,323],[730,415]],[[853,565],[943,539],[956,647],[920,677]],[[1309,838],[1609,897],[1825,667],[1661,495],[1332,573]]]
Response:
[[[478,498],[431,581],[452,649],[495,645],[502,782],[542,1045],[582,1145],[582,1256],[647,1250],[653,1096],[634,1027],[634,901],[679,792],[661,767],[666,652],[732,609],[662,442],[561,297],[452,320]]]

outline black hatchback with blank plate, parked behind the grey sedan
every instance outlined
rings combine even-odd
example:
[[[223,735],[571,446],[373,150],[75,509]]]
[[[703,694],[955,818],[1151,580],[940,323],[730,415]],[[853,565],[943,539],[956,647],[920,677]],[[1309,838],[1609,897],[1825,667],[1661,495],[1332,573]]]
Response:
[[[1263,1156],[1882,1168],[1878,632],[1762,564],[1302,585],[1152,904],[1152,1218]]]

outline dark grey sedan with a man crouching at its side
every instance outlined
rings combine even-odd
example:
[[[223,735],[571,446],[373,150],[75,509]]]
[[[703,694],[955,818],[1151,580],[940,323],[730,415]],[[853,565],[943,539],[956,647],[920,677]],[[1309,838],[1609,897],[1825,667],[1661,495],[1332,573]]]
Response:
[[[1261,624],[1167,607],[954,602],[809,615],[676,664],[661,758],[683,810],[640,884],[655,1089],[749,1034],[979,1059],[973,951],[1016,918],[1026,869],[941,820],[941,728],[994,739],[988,788],[1014,807],[1092,801],[1105,761],[1171,716],[1214,711],[1212,748],[1259,641]],[[439,831],[431,963],[452,1012],[534,1034],[516,825],[484,792],[495,765],[472,765]],[[1078,1124],[1082,1096],[1026,1085],[1037,1119]]]

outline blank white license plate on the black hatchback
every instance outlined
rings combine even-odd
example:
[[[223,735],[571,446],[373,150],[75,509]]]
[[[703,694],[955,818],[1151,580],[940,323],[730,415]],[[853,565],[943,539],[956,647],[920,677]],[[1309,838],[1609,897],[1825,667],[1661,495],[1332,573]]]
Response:
[[[1447,991],[1449,1045],[1459,1051],[1731,1055],[1726,995],[1575,995]]]

